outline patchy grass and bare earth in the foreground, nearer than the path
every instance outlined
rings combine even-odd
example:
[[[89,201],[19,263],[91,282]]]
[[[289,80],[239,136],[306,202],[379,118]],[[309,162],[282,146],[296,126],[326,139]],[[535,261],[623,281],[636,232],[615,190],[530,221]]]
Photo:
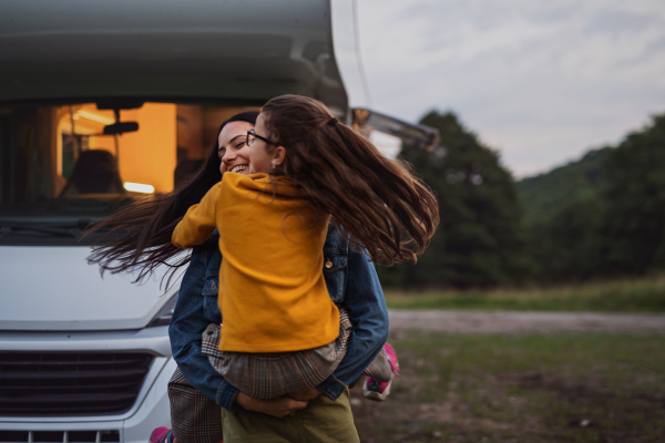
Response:
[[[385,402],[351,390],[361,441],[664,442],[665,337],[397,331]]]

